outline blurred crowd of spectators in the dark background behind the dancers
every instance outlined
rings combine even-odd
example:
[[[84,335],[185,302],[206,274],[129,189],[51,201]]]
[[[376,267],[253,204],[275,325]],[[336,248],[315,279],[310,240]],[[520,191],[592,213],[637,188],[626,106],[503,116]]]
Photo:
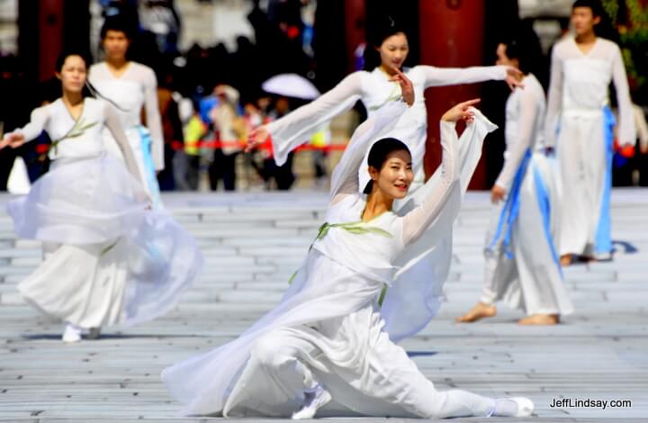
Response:
[[[284,166],[275,166],[269,146],[250,153],[244,152],[244,146],[251,130],[312,98],[280,90],[270,92],[264,89],[264,82],[284,74],[317,82],[326,73],[318,74],[323,65],[320,60],[317,66],[318,57],[314,54],[315,31],[312,23],[302,18],[302,9],[309,0],[251,3],[247,20],[254,29],[254,41],[240,36],[233,50],[219,43],[211,47],[194,44],[180,51],[178,40],[183,21],[173,0],[100,1],[103,16],[121,15],[133,28],[138,28],[130,45],[130,59],[152,67],[157,74],[166,142],[166,168],[158,175],[162,190],[285,190],[295,183],[293,155]],[[566,25],[563,30],[566,33]],[[363,67],[364,45],[356,47],[359,69]],[[100,60],[101,48],[94,48],[94,59]],[[59,95],[54,77],[38,89],[31,89],[20,58],[0,57],[0,70],[0,93],[13,99],[11,103],[0,102],[0,124],[4,130],[22,126],[34,107]],[[633,77],[632,71],[629,76]],[[341,76],[334,78],[338,81]],[[330,88],[330,84],[317,85]],[[645,146],[648,129],[642,130],[646,128],[644,116],[644,109],[637,107],[637,128],[643,141],[638,145]],[[348,128],[347,133],[351,130]],[[311,139],[311,148],[298,153],[308,157],[304,161],[306,172],[302,174],[318,186],[326,184],[327,169],[332,165],[327,160],[330,139],[329,128],[323,128]],[[0,190],[6,190],[16,155],[24,158],[32,180],[47,170],[48,160],[42,154],[42,146],[47,142],[42,139],[18,151],[0,153]],[[648,155],[644,149],[617,152],[614,184],[648,185]]]

